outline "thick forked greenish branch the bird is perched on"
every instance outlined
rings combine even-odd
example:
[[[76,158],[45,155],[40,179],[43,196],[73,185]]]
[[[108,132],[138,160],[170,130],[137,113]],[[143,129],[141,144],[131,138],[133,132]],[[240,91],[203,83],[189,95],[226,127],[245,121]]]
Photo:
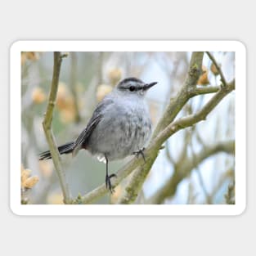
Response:
[[[226,97],[227,94],[235,89],[235,80],[231,83],[227,83],[226,87],[214,87],[209,90],[209,88],[196,88],[197,81],[200,77],[202,59],[204,52],[193,52],[191,56],[190,67],[188,74],[186,76],[185,83],[182,85],[181,90],[177,93],[177,97],[172,98],[167,106],[167,109],[164,112],[164,115],[159,120],[155,128],[155,132],[150,140],[149,146],[145,150],[146,163],[144,163],[141,158],[133,158],[123,168],[119,169],[117,173],[117,178],[113,182],[113,186],[117,186],[124,177],[127,177],[128,174],[132,174],[131,179],[128,182],[128,185],[125,187],[124,195],[119,198],[118,204],[132,204],[136,199],[139,191],[141,191],[141,186],[146,180],[147,174],[150,172],[152,164],[155,162],[155,159],[159,153],[159,150],[162,147],[164,141],[171,137],[175,132],[179,131],[182,128],[190,127],[198,122],[206,119],[207,115],[222,101],[223,97]],[[206,92],[207,91],[207,92]],[[182,110],[183,106],[186,105],[186,102],[199,94],[204,93],[214,93],[214,96],[209,100],[204,107],[199,110],[194,115],[188,115],[177,121],[173,121],[177,114]],[[181,170],[182,172],[182,170]],[[177,173],[181,175],[181,173]],[[87,195],[79,196],[76,200],[73,201],[74,204],[89,204],[94,200],[97,200],[102,195],[107,193],[105,184],[97,187],[93,191],[89,192]]]

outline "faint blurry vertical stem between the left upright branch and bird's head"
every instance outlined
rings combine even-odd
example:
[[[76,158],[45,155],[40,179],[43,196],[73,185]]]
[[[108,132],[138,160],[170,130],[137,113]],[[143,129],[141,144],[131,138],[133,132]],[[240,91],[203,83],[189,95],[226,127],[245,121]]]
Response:
[[[70,52],[71,68],[70,68],[70,88],[74,98],[74,120],[79,123],[81,116],[79,113],[79,98],[76,91],[77,86],[77,70],[78,70],[78,57],[76,52]]]

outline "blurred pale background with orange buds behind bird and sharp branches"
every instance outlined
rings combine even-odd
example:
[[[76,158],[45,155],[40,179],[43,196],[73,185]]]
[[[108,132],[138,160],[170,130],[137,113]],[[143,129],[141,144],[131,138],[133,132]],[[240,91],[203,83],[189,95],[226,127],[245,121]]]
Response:
[[[213,52],[227,82],[235,77],[234,52]],[[97,102],[120,79],[137,77],[157,81],[146,95],[153,124],[186,78],[191,52],[69,52],[62,61],[52,128],[58,145],[74,141],[85,128]],[[25,204],[62,204],[61,188],[52,160],[38,161],[48,150],[43,115],[52,83],[53,52],[21,53],[21,189]],[[198,86],[219,85],[218,70],[204,54],[204,74]],[[213,94],[193,97],[177,118],[200,110]],[[137,204],[234,204],[235,92],[210,113],[208,119],[177,132],[165,142],[152,166]],[[73,197],[105,182],[105,164],[85,150],[73,159],[62,155],[62,165]],[[128,161],[110,163],[115,173]],[[243,171],[243,170],[238,170]],[[115,204],[127,177],[95,204]],[[231,195],[230,195],[231,194]]]

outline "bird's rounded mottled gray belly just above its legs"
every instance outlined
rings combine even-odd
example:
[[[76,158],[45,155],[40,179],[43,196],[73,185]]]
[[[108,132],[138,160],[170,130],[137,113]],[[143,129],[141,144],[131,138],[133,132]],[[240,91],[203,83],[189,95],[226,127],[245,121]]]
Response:
[[[92,132],[87,149],[92,155],[111,161],[124,159],[141,150],[150,137],[150,118],[142,115],[124,115],[122,118],[103,120]]]

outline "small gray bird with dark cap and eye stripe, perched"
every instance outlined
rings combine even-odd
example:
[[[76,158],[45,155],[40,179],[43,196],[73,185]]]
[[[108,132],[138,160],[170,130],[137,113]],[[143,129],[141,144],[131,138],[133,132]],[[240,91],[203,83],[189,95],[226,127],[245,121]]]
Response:
[[[115,192],[109,175],[109,162],[124,159],[128,155],[141,155],[152,130],[150,111],[146,104],[146,92],[157,82],[144,83],[130,77],[121,80],[96,106],[88,124],[76,140],[58,146],[59,153],[77,155],[88,150],[106,163],[106,188]],[[52,159],[50,150],[39,155],[39,160]]]

